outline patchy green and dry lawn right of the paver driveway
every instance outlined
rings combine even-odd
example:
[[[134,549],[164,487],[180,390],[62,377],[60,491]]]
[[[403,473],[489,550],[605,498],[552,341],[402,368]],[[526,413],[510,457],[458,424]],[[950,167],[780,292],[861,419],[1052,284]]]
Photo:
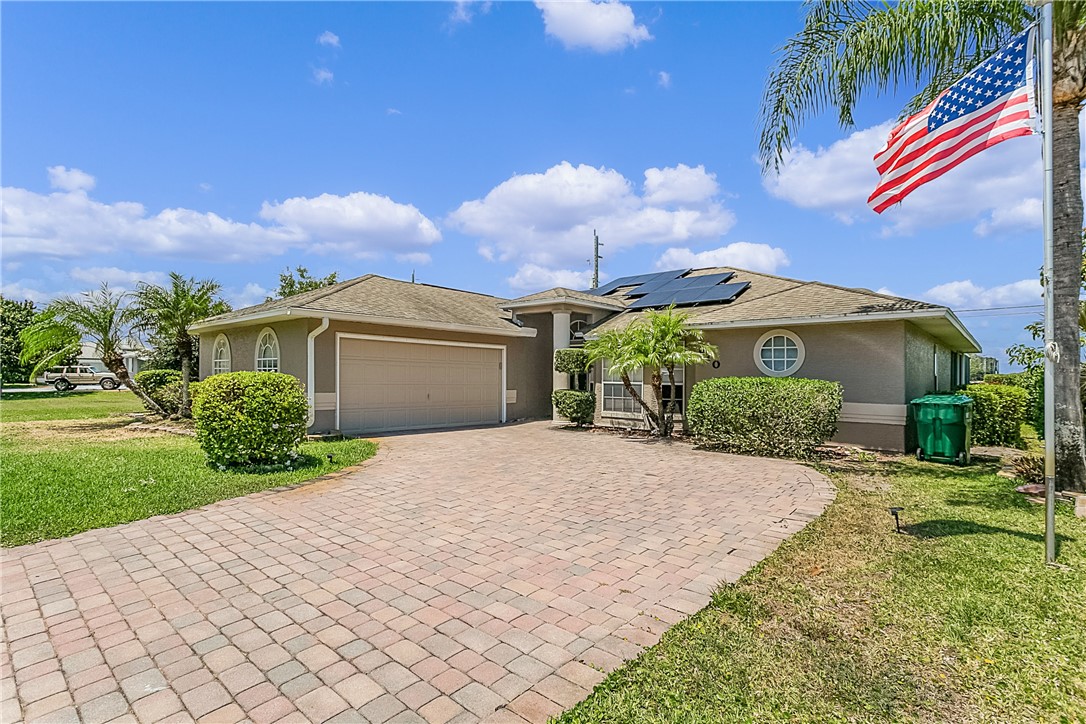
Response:
[[[558,721],[1086,721],[1086,520],[1050,569],[993,465],[833,468],[821,519]]]

